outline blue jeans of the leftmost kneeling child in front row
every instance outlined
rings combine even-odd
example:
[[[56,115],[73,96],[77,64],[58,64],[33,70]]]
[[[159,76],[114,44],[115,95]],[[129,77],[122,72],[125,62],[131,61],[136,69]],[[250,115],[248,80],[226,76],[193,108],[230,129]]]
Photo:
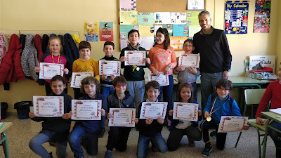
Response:
[[[52,135],[51,132],[48,132],[49,136]],[[55,133],[53,133],[53,136],[55,136]],[[38,154],[40,157],[49,157],[50,154],[48,153],[48,151],[45,149],[45,147],[42,146],[42,144],[50,141],[52,138],[48,137],[43,133],[38,133],[36,136],[34,136],[31,140],[30,140],[30,149],[35,152],[36,154]],[[64,142],[56,142],[55,143],[55,147],[56,147],[56,154],[57,157],[59,158],[63,158],[66,156],[66,147],[67,147],[67,140],[65,140]]]

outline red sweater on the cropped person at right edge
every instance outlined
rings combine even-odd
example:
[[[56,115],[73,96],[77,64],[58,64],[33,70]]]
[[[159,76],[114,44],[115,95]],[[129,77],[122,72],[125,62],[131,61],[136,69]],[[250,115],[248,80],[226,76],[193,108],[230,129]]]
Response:
[[[258,110],[256,111],[256,117],[261,117],[261,112],[266,111],[269,101],[271,101],[270,109],[281,107],[281,84],[279,82],[279,79],[273,81],[268,85],[268,88],[266,88],[266,92],[263,94],[263,98],[261,98]]]

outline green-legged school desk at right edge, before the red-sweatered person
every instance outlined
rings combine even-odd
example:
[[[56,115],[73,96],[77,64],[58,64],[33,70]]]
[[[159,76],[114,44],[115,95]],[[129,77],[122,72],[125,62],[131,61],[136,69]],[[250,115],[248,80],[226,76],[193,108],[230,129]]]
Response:
[[[263,115],[263,117],[268,118],[268,120],[266,121],[266,131],[264,133],[264,138],[263,138],[263,158],[264,158],[264,157],[266,157],[266,141],[267,141],[267,137],[268,137],[268,128],[281,133],[280,130],[275,129],[273,126],[270,126],[270,124],[268,124],[268,123],[270,120],[273,120],[273,121],[277,121],[278,123],[281,124],[281,116],[280,116],[280,114],[276,114],[274,112],[261,112],[261,115]]]

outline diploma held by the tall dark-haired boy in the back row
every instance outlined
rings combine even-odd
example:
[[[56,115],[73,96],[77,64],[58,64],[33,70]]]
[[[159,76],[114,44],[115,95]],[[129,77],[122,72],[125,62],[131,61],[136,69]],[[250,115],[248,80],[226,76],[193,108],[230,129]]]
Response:
[[[137,65],[145,66],[145,55],[146,51],[125,51],[125,66],[126,65]]]

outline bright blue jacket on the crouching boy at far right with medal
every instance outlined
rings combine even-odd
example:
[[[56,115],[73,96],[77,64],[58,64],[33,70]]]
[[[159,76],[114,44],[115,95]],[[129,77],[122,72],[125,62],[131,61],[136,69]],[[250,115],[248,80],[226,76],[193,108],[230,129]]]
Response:
[[[216,103],[214,105],[212,112],[214,112],[215,110],[216,110],[216,112],[211,114],[211,119],[214,119],[214,121],[216,121],[216,124],[219,124],[219,122],[221,121],[221,116],[241,117],[240,108],[238,107],[236,101],[229,96],[229,94],[226,97],[226,99],[224,99],[224,100],[219,98],[218,95],[216,95],[216,99],[211,100],[211,96],[209,96],[207,105],[204,108],[204,111],[202,114],[205,114],[205,112],[209,112],[209,113],[211,112],[211,107],[213,106],[215,100],[216,100]],[[233,100],[232,105],[229,105],[229,103],[230,103],[229,100]]]

